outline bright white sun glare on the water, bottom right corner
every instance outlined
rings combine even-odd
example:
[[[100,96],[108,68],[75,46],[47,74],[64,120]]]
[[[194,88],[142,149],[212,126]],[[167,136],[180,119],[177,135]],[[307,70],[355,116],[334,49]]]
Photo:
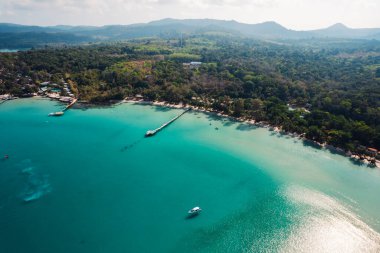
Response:
[[[333,198],[298,186],[284,195],[304,213],[282,252],[380,252],[380,234]]]

